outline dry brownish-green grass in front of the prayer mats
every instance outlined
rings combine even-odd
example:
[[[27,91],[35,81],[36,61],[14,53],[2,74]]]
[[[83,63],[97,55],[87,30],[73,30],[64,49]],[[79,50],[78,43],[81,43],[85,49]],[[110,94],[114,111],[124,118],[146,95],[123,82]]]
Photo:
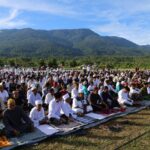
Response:
[[[137,138],[138,137],[138,138]],[[115,119],[78,134],[49,138],[19,150],[149,150],[150,109]]]

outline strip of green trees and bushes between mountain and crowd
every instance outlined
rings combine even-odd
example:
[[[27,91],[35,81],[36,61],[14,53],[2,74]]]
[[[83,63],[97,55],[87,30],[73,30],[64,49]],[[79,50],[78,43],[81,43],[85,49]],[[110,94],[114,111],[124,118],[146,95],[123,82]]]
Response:
[[[49,58],[0,58],[0,66],[24,66],[24,67],[65,67],[78,68],[82,65],[94,65],[96,68],[110,69],[150,69],[150,56],[143,57],[49,57]]]

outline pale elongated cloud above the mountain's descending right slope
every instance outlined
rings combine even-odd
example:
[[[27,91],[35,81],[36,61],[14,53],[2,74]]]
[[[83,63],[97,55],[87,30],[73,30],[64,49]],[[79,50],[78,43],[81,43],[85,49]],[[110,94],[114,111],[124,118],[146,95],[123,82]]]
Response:
[[[101,35],[124,37],[140,45],[150,43],[150,31],[144,29],[137,23],[128,25],[116,21],[105,25],[93,26],[91,28]]]

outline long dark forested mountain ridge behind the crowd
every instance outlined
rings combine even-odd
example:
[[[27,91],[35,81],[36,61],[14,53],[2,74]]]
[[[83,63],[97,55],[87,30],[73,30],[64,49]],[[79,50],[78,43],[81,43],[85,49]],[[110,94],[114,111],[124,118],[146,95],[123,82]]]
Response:
[[[0,30],[0,56],[141,56],[150,46],[139,46],[129,40],[100,36],[89,29]]]

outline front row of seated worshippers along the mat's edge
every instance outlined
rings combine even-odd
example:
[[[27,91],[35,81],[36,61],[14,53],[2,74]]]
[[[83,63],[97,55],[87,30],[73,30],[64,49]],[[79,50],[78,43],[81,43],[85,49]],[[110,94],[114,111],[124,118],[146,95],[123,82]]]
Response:
[[[35,88],[32,90],[34,91]],[[98,90],[97,87],[94,88],[89,100],[85,99],[83,90],[79,90],[78,96],[73,99],[68,93],[62,95],[60,92],[55,93],[51,90],[53,99],[48,104],[48,111],[45,111],[43,101],[37,99],[34,103],[29,103],[31,110],[28,113],[24,112],[20,105],[16,105],[15,97],[10,98],[5,110],[4,106],[0,105],[1,121],[5,127],[4,133],[8,137],[18,136],[21,133],[33,131],[34,127],[41,124],[67,124],[77,116],[84,116],[88,112],[112,111],[114,108],[124,111],[126,105],[134,103],[129,97],[128,87],[119,91],[117,99],[113,98],[107,86],[103,88],[100,95]]]

